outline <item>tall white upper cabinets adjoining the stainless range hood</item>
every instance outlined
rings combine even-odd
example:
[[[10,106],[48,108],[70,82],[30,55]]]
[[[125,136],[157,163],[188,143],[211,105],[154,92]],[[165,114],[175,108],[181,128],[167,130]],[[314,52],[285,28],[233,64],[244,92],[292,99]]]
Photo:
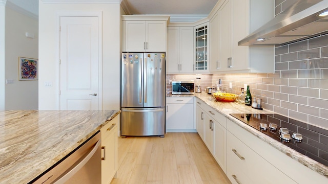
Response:
[[[274,17],[274,1],[222,0],[216,7],[210,15],[210,72],[274,73],[273,45],[238,46]]]

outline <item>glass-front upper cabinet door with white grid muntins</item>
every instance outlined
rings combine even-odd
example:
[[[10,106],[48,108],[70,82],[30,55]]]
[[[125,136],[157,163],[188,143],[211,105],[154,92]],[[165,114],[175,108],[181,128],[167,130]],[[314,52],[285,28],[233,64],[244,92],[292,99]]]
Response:
[[[194,72],[208,71],[208,22],[195,27],[195,67]]]

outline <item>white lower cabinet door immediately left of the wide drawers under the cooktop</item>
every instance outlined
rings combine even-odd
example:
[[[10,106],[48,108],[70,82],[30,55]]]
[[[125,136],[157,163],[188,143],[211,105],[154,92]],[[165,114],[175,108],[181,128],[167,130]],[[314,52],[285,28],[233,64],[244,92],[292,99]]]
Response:
[[[226,121],[226,118],[224,120]],[[214,158],[224,173],[227,173],[227,129],[219,122],[214,122]]]

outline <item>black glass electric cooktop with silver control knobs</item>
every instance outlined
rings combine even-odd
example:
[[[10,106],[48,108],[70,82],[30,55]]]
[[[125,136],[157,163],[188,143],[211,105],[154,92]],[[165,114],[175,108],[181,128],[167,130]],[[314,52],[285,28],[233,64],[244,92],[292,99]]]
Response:
[[[328,166],[328,130],[275,113],[230,115],[281,144]]]

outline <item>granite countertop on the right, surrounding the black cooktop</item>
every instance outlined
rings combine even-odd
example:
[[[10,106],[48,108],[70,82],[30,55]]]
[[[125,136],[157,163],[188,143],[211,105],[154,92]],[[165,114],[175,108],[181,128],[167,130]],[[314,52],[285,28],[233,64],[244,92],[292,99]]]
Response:
[[[325,177],[328,177],[327,166],[318,163],[316,160],[309,158],[308,156],[305,156],[295,151],[294,149],[282,145],[281,143],[275,141],[271,137],[263,135],[261,132],[257,131],[251,126],[245,125],[243,122],[239,121],[238,119],[230,115],[230,113],[276,113],[276,112],[272,112],[266,109],[263,110],[254,109],[250,106],[246,106],[238,102],[218,102],[212,97],[212,95],[208,95],[207,93],[197,93],[194,96],[204,101],[206,104],[214,108],[216,111],[223,114],[226,118],[235,122],[237,125],[247,130],[248,132],[252,133],[260,140],[270,144],[271,146],[283,152],[284,154],[288,155],[289,157],[297,160],[302,165],[318,172],[319,174]]]

